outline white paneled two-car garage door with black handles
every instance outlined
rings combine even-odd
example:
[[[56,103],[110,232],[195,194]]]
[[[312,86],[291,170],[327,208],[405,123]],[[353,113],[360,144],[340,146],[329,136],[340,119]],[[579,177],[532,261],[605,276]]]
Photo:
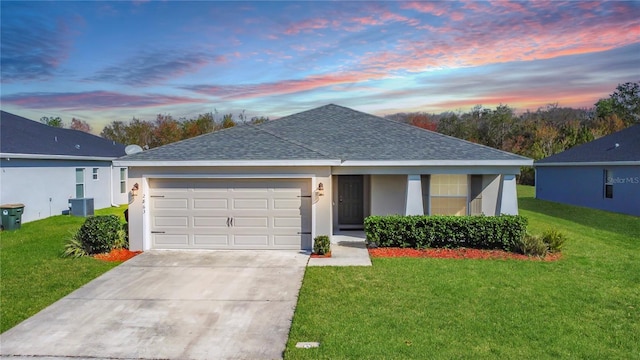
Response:
[[[154,249],[309,249],[309,180],[150,182]]]

